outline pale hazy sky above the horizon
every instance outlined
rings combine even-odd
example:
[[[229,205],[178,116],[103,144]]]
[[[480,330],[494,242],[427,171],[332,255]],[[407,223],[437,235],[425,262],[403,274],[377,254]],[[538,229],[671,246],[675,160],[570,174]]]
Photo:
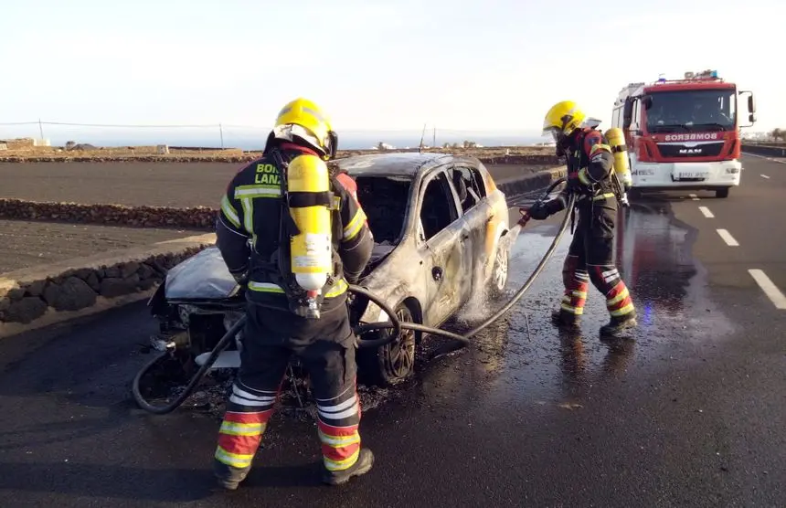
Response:
[[[766,131],[786,128],[784,15],[767,0],[7,2],[0,123],[265,130],[303,96],[340,136],[537,135],[557,101],[608,125],[629,82],[717,69],[754,91]]]

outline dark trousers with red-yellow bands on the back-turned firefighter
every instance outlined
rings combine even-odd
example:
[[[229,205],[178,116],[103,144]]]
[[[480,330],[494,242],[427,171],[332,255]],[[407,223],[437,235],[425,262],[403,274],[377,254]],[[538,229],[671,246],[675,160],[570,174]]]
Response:
[[[218,431],[218,478],[243,480],[273,413],[292,355],[303,361],[316,399],[324,468],[345,471],[360,452],[354,334],[345,305],[309,321],[249,305],[240,368]]]

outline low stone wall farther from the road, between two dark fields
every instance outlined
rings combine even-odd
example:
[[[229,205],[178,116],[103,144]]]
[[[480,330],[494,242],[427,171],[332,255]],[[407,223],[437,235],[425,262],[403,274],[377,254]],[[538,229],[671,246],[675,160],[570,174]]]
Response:
[[[217,211],[207,206],[172,208],[166,206],[80,205],[78,203],[40,203],[0,198],[0,218],[111,226],[213,230]]]

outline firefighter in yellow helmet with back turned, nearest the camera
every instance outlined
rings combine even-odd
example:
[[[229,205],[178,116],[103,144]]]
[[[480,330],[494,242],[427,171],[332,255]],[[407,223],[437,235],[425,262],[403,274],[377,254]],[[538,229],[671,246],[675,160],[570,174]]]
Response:
[[[239,170],[221,199],[218,249],[246,288],[248,315],[214,456],[218,483],[229,490],[250,471],[291,355],[303,360],[316,399],[324,482],[346,482],[369,471],[374,461],[371,451],[360,446],[356,337],[346,305],[347,283],[358,280],[374,243],[356,201],[355,182],[325,167],[336,149],[337,136],[319,107],[305,99],[291,101],[279,112],[261,158]],[[293,192],[292,181],[302,182],[303,175],[316,175],[312,180],[330,191],[311,192],[305,185]],[[298,207],[316,209],[328,228],[313,235],[324,238],[315,241],[324,241],[320,255],[333,272],[320,291],[312,290],[320,295],[314,308],[303,308],[302,279],[292,273],[303,268],[291,242],[302,234],[296,220],[302,216],[291,213]],[[300,259],[313,253],[309,250]]]

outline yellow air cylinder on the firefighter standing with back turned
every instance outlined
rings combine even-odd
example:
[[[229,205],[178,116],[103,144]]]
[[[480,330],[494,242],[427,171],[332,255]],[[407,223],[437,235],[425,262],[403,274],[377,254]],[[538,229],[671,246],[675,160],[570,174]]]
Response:
[[[292,273],[303,290],[319,292],[333,272],[327,164],[314,155],[295,157],[287,171],[287,191],[290,215],[300,230],[290,247]]]

